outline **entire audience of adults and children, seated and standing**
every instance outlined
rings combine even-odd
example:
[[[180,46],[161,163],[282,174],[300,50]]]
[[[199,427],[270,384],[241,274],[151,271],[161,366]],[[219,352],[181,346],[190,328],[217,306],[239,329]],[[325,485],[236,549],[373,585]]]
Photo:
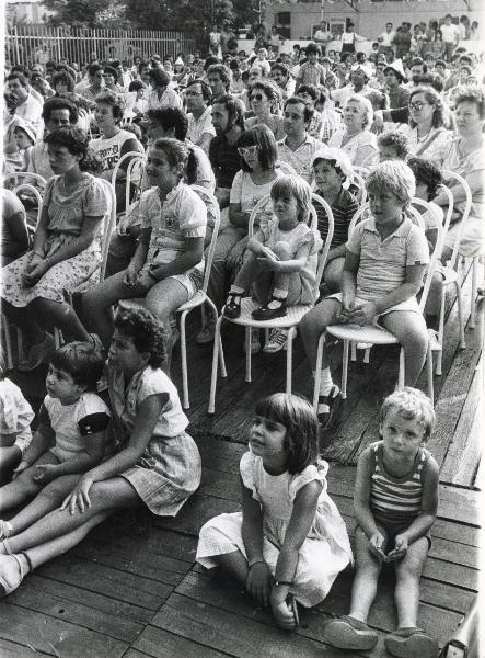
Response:
[[[207,293],[226,317],[239,317],[247,295],[255,320],[308,305],[299,332],[320,396],[316,410],[286,394],[257,405],[241,461],[242,512],[204,526],[197,559],[243,582],[287,629],[298,605],[325,598],[353,552],[319,457],[319,423],[331,426],[340,395],[325,347],[315,372],[317,343],[335,322],[381,325],[404,348],[406,387],[384,401],[380,440],[359,458],[350,612],[327,624],[325,638],[344,649],[376,644],[367,616],[380,569],[392,563],[399,625],[386,648],[437,655],[417,620],[437,510],[437,465],[425,447],[435,415],[413,387],[439,325],[440,266],[425,314],[417,297],[435,249],[443,264],[457,240],[463,256],[483,253],[485,220],[485,71],[460,36],[448,47],[448,26],[447,18],[439,54],[419,30],[408,45],[411,25],[394,33],[391,23],[369,57],[355,52],[358,39],[340,54],[325,53],[323,38],[278,54],[276,30],[273,44],[224,55],[216,30],[206,58],[152,54],[5,71],[1,311],[22,332],[15,367],[45,363],[48,373],[32,435],[32,408],[0,353],[0,593],[115,510],[145,503],[175,515],[197,489],[200,456],[170,362],[176,310],[200,290],[213,239]],[[141,164],[131,177],[132,160]],[[465,190],[447,171],[470,186],[465,217]],[[38,191],[41,208],[31,190],[15,194],[15,174]],[[104,235],[109,186],[116,228]],[[328,217],[315,204],[316,226],[310,220],[313,192],[334,220],[316,298]],[[419,225],[416,197],[430,204]],[[134,298],[145,308],[125,302]],[[287,337],[272,330],[263,350],[278,352]],[[196,342],[213,338],[207,314]],[[258,329],[250,349],[262,349]]]

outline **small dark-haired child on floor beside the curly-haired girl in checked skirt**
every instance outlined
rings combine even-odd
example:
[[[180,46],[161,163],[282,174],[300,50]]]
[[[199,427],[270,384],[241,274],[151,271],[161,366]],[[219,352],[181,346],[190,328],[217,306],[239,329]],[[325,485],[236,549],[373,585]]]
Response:
[[[48,483],[85,473],[101,462],[108,450],[109,410],[93,392],[102,373],[103,356],[91,343],[68,343],[53,354],[38,428],[14,470],[15,478],[0,489],[0,513],[37,496]],[[37,496],[9,522],[0,521],[0,540],[55,507],[49,496]]]

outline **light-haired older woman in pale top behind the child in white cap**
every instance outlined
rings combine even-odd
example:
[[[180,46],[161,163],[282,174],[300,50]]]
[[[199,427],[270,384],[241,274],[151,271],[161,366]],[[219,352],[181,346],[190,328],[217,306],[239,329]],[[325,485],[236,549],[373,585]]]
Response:
[[[354,166],[376,163],[379,151],[376,135],[369,129],[372,118],[372,105],[368,99],[359,94],[349,97],[344,106],[345,127],[332,135],[328,146],[345,151]]]

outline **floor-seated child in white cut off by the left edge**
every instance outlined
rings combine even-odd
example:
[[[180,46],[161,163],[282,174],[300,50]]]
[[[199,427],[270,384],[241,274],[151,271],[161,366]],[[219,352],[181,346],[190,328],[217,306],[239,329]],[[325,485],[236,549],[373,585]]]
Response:
[[[0,345],[0,484],[10,477],[32,441],[34,412],[22,390],[5,377],[7,360]]]

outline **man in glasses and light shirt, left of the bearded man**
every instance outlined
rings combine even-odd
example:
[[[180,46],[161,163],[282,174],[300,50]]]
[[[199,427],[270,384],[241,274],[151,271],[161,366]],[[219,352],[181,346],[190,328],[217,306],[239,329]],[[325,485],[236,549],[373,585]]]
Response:
[[[188,118],[188,139],[199,146],[209,155],[209,146],[216,136],[212,124],[212,107],[210,105],[212,94],[210,87],[203,80],[189,82],[184,92],[185,106]]]

